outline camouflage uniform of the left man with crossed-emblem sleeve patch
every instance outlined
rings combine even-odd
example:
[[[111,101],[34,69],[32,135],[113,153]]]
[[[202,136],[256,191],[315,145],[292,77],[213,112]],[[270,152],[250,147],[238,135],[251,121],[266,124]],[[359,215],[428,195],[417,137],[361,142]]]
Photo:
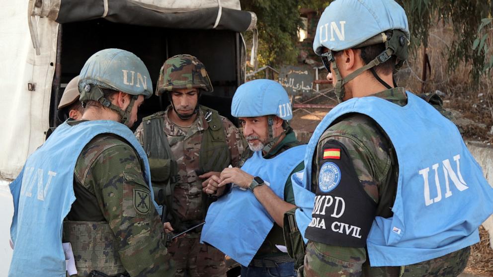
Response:
[[[159,215],[152,202],[141,202],[133,196],[135,189],[149,192],[141,168],[133,147],[116,135],[98,135],[87,143],[74,170],[77,199],[64,224],[64,240],[69,235],[66,225],[70,226],[71,222],[107,222],[114,236],[113,242],[117,244],[114,248],[118,251],[121,265],[130,276],[172,276],[174,270],[164,245]],[[84,234],[75,234],[78,235]],[[98,250],[106,259],[111,259],[108,256],[113,254],[110,252],[111,244],[109,241],[106,244],[108,249]],[[76,264],[83,259],[81,253],[75,252],[74,256]],[[86,277],[88,274],[79,270],[78,276]]]

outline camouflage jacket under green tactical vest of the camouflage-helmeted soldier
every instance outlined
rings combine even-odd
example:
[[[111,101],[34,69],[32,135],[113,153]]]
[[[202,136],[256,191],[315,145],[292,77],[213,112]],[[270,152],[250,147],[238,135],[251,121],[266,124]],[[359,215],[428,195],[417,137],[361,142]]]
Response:
[[[202,181],[197,176],[196,170],[199,170],[199,153],[202,135],[208,128],[208,123],[204,118],[202,110],[196,120],[192,123],[188,132],[185,134],[176,124],[168,117],[172,109],[168,106],[164,112],[164,133],[168,139],[169,146],[173,152],[178,165],[178,175],[180,180],[176,184],[173,192],[173,210],[178,214],[182,222],[191,224],[200,223],[205,218],[202,209]],[[231,156],[231,164],[238,166],[240,155],[243,152],[243,142],[238,129],[227,118],[221,116],[221,121],[226,130],[226,142]],[[135,131],[135,136],[143,144],[144,127],[141,123]],[[194,233],[187,236],[197,235]]]

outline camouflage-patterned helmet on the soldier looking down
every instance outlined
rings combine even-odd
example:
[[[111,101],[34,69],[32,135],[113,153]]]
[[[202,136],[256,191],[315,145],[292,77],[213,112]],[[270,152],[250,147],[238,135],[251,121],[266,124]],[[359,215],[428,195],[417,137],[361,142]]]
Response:
[[[201,88],[212,92],[211,80],[204,64],[191,55],[176,55],[164,62],[159,73],[156,95],[179,88]]]

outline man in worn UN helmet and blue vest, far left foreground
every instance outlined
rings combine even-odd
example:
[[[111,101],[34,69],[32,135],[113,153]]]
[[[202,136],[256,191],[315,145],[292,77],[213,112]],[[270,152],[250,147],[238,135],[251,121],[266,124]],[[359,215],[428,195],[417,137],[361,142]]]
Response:
[[[128,51],[105,49],[87,60],[81,120],[60,125],[10,185],[9,276],[174,274],[149,162],[128,128],[152,95],[150,80]]]

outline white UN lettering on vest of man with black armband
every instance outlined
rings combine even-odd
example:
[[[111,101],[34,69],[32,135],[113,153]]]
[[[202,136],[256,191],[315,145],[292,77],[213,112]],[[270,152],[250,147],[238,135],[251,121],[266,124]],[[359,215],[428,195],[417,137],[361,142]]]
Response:
[[[452,166],[450,164],[450,159],[443,160],[441,162],[441,168],[443,170],[443,175],[445,178],[445,198],[449,198],[452,196],[452,191],[450,190],[450,182],[449,179],[452,180],[452,183],[454,186],[459,190],[459,192],[467,190],[469,187],[467,186],[466,182],[462,178],[461,171],[460,171],[460,158],[461,155],[455,155],[453,157],[453,160],[455,161],[457,165],[457,172],[455,172],[452,169]],[[439,180],[439,173],[438,171],[440,168],[439,163],[435,163],[431,166],[431,170],[434,172],[430,174],[430,167],[423,168],[419,170],[419,175],[423,177],[423,195],[424,195],[424,204],[426,206],[430,206],[434,203],[442,201],[442,190],[441,190],[441,184]],[[436,192],[437,195],[435,198],[431,199],[430,196],[430,182],[429,182],[429,175],[434,175],[434,180],[435,182],[435,187],[436,187]]]

